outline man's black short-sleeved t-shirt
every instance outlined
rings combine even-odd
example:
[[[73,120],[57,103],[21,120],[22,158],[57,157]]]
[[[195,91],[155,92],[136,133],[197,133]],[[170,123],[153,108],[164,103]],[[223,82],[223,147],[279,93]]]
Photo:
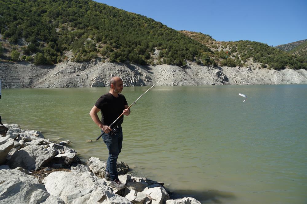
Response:
[[[128,103],[124,95],[118,94],[118,97],[116,98],[111,93],[106,93],[100,96],[95,104],[95,106],[101,110],[101,122],[108,126],[123,113],[125,105],[128,105]],[[123,118],[124,115],[118,119],[120,122],[117,125],[123,123]]]

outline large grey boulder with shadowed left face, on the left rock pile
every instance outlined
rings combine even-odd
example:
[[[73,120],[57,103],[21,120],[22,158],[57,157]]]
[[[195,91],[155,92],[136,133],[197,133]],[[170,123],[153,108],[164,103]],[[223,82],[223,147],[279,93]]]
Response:
[[[29,145],[19,149],[8,161],[10,168],[22,167],[26,170],[35,170],[47,164],[55,155],[54,148],[45,149],[39,145]]]

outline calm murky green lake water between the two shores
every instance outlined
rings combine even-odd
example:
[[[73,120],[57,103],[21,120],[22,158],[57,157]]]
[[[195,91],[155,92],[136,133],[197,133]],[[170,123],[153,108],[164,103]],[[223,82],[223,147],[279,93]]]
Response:
[[[122,93],[131,104],[148,88]],[[79,157],[105,161],[89,111],[107,92],[2,89],[0,114],[3,123],[70,140]],[[158,86],[125,116],[118,160],[202,203],[307,203],[306,104],[307,85]]]

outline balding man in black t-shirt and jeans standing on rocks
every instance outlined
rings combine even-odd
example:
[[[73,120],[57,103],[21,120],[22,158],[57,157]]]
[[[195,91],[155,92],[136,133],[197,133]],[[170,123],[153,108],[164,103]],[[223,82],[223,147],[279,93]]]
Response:
[[[100,127],[102,130],[101,132],[104,132],[102,138],[109,150],[109,157],[104,178],[106,180],[111,179],[111,187],[121,190],[125,188],[126,185],[121,183],[118,179],[116,162],[123,144],[123,131],[121,124],[123,123],[124,115],[130,114],[130,109],[128,108],[129,106],[125,96],[120,94],[124,88],[123,80],[121,80],[120,77],[112,77],[109,85],[109,92],[100,96],[89,115]],[[101,121],[97,115],[99,111],[101,111]],[[115,126],[110,127],[110,125],[121,114],[124,115],[117,120],[117,122],[114,124]]]

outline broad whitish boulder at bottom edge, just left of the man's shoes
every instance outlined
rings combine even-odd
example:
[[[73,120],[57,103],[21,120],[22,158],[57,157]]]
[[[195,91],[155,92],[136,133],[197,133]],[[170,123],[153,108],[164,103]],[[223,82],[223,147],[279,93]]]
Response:
[[[128,199],[116,195],[106,183],[92,172],[52,172],[43,180],[50,195],[65,203],[128,204]]]

